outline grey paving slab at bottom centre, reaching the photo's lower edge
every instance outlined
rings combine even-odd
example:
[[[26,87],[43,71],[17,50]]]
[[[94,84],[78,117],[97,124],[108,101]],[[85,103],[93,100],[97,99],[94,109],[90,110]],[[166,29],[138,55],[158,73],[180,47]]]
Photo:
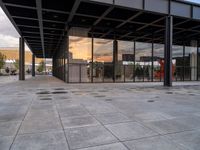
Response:
[[[86,148],[117,142],[103,126],[90,126],[65,130],[70,149]]]

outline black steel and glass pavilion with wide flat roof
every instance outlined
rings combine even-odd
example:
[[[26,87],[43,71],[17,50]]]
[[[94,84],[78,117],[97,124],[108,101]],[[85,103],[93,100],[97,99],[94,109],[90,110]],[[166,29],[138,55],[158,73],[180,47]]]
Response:
[[[52,58],[53,75],[67,83],[171,86],[172,81],[200,80],[198,4],[180,0],[2,0],[0,4],[21,35],[20,77],[26,42],[33,60]]]

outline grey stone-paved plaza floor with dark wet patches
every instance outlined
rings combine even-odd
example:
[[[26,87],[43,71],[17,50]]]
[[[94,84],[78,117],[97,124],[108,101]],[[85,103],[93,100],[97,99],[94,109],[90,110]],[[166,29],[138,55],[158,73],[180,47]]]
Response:
[[[0,88],[0,150],[200,150],[200,82]]]

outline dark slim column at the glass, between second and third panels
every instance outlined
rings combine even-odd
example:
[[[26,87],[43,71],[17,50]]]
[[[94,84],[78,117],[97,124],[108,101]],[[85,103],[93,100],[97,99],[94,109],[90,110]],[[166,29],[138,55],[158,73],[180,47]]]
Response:
[[[118,41],[113,41],[113,81],[116,81],[118,63]]]

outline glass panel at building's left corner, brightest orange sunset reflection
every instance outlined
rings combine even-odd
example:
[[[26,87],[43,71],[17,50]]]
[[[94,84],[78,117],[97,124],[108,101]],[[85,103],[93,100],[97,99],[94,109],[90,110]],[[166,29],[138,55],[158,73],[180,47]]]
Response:
[[[91,38],[69,36],[70,82],[91,82],[91,42]],[[75,68],[78,71],[74,71]]]

